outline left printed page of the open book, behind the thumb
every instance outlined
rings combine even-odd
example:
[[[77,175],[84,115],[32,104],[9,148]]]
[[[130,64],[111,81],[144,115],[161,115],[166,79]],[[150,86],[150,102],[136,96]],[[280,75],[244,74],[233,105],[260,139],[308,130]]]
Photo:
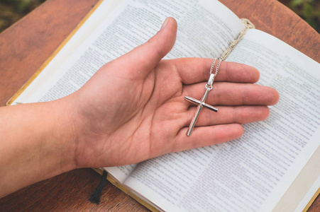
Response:
[[[15,102],[50,101],[75,92],[106,62],[155,35],[167,16],[178,23],[177,42],[167,59],[219,57],[244,29],[219,1],[104,1]],[[107,170],[122,180],[132,169]]]

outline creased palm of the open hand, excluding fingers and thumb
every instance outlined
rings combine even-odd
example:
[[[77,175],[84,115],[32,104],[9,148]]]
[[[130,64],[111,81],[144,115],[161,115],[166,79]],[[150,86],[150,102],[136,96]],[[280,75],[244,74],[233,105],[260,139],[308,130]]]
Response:
[[[83,143],[82,149],[94,148],[98,157],[112,155],[108,162],[120,165],[177,151],[175,139],[185,124],[183,115],[188,104],[183,100],[182,82],[175,66],[162,61],[145,78],[109,76],[105,84],[113,87],[111,93],[95,95],[95,100],[92,94],[83,98],[83,108],[108,107],[84,110],[87,112],[82,116],[86,119],[82,120],[87,123],[87,139],[92,141]],[[79,163],[94,160],[91,151],[84,158]]]

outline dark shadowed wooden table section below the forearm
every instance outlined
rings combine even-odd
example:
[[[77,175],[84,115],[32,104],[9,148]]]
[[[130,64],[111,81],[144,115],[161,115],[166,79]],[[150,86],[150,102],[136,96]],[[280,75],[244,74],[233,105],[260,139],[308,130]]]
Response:
[[[0,199],[0,211],[148,211],[110,182],[100,204],[92,204],[89,196],[100,179],[92,169],[73,170]]]

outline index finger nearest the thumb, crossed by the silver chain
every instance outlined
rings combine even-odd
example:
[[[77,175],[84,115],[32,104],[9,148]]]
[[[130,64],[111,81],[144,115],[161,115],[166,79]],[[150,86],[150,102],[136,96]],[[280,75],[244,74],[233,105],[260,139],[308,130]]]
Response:
[[[193,84],[208,81],[212,61],[213,59],[182,58],[175,59],[174,65],[182,79],[182,83]],[[214,71],[212,72],[214,73]],[[214,81],[256,83],[259,77],[259,71],[252,66],[221,61],[218,75]]]

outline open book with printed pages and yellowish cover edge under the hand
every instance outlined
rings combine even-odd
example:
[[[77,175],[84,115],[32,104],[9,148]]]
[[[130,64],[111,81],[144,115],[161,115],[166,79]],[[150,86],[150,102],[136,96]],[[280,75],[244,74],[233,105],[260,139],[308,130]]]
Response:
[[[103,64],[178,22],[166,59],[221,57],[246,25],[213,0],[100,1],[9,105],[75,92]],[[277,38],[249,29],[226,61],[255,66],[280,93],[264,122],[240,139],[104,167],[118,187],[159,211],[303,211],[320,186],[320,64]]]

